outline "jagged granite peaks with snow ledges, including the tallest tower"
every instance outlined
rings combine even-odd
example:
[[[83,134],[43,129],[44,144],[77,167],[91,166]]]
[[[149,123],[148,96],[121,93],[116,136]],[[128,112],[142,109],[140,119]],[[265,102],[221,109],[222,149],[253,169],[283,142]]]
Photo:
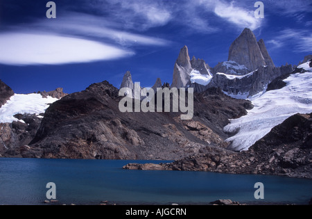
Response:
[[[198,72],[192,78],[193,72]],[[261,39],[257,42],[250,29],[244,29],[229,47],[229,58],[215,67],[209,67],[205,60],[189,58],[184,46],[175,63],[171,88],[194,88],[195,92],[218,87],[229,95],[257,94],[278,76],[293,72],[292,65],[275,67]],[[198,79],[199,76],[199,79]],[[202,83],[207,81],[207,83]]]

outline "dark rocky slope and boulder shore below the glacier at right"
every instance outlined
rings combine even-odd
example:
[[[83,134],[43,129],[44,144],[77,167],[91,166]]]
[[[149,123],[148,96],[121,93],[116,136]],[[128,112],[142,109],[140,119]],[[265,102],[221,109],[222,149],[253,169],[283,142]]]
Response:
[[[230,152],[207,147],[209,153],[162,164],[162,170],[283,175],[311,179],[311,130],[312,113],[296,114],[273,128],[248,151]],[[132,164],[132,169],[135,169],[135,166]]]

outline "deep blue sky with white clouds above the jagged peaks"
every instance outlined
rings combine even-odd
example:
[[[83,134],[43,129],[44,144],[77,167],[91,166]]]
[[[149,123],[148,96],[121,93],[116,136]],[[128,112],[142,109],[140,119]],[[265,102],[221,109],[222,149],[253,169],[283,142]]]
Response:
[[[263,19],[250,0],[55,0],[56,19],[47,2],[0,1],[0,79],[17,93],[119,88],[128,70],[141,86],[171,83],[184,45],[214,67],[245,27],[277,66],[312,54],[310,0],[262,1]]]

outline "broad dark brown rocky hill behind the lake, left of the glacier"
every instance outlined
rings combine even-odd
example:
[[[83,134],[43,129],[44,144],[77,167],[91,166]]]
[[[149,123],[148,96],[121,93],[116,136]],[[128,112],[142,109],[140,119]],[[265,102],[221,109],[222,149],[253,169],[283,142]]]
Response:
[[[182,159],[227,147],[223,127],[250,102],[211,88],[194,97],[193,120],[180,113],[121,113],[119,90],[95,83],[53,103],[24,157],[67,159]]]

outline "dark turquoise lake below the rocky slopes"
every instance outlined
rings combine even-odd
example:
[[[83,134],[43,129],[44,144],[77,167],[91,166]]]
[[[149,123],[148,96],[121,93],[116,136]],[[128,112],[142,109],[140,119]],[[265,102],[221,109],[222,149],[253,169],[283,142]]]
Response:
[[[55,183],[60,204],[209,204],[214,200],[308,204],[312,180],[211,172],[123,170],[165,161],[0,159],[0,204],[43,204]],[[264,185],[256,200],[254,184]]]

